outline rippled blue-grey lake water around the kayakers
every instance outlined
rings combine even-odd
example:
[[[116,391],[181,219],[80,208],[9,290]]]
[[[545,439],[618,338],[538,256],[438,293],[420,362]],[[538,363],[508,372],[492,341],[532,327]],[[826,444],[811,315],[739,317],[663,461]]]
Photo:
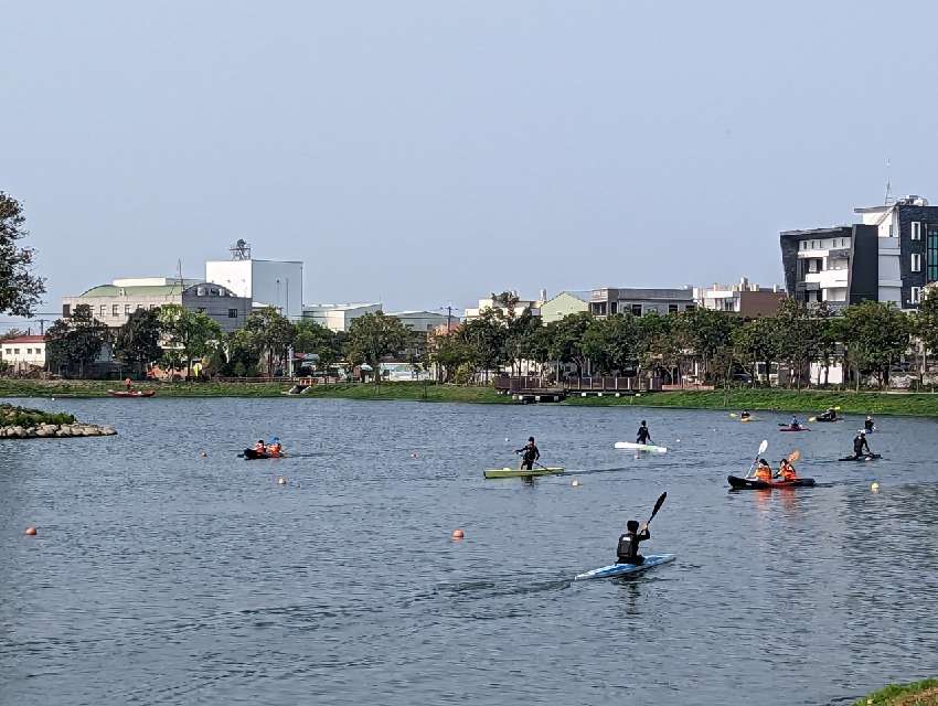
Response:
[[[938,672],[935,421],[839,463],[860,418],[30,404],[120,435],[0,441],[2,704],[841,704]],[[641,417],[667,456],[611,448]],[[303,458],[235,457],[275,434]],[[529,434],[580,486],[482,480]],[[763,438],[823,486],[728,493]],[[572,585],[663,490],[643,550],[678,561]]]

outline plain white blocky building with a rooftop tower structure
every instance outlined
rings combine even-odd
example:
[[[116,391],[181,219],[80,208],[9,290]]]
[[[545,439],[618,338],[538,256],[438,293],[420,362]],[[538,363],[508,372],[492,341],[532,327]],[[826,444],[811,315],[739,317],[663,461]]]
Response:
[[[254,259],[245,240],[238,240],[230,249],[231,259],[205,263],[206,281],[251,299],[254,307],[274,307],[292,320],[303,315],[302,263]]]

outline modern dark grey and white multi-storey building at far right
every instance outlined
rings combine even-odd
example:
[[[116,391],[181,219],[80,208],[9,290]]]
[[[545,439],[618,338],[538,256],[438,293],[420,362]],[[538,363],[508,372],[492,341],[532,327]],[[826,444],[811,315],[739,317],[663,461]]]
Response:
[[[907,196],[854,212],[862,223],[779,234],[788,291],[835,309],[863,300],[917,309],[938,281],[938,206]]]

